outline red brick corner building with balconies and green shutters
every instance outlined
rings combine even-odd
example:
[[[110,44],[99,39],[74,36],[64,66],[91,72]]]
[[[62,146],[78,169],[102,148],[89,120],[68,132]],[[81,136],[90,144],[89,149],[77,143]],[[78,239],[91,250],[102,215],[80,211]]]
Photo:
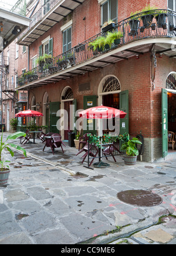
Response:
[[[153,10],[146,11],[148,5]],[[16,59],[16,90],[28,92],[28,103],[19,101],[18,111],[39,110],[44,115],[39,124],[58,132],[57,111],[65,109],[68,127],[60,134],[67,139],[67,132],[75,131],[77,109],[120,108],[127,112],[120,133],[144,137],[143,160],[166,157],[167,131],[176,132],[175,5],[175,0],[29,2],[31,22],[18,37]],[[120,42],[93,48],[97,38],[110,34],[104,27],[110,19],[109,32],[120,31]],[[50,58],[39,62],[45,54]],[[66,118],[64,113],[63,123]]]

